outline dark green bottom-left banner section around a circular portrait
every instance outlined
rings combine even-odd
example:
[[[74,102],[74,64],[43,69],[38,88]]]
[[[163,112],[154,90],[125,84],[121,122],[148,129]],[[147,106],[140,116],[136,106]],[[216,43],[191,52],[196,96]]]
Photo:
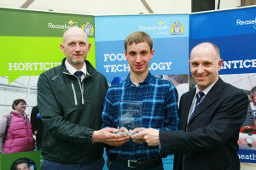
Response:
[[[19,152],[0,155],[0,170],[16,170],[15,166],[20,161],[26,161],[31,170],[40,170],[43,157],[41,151]]]

